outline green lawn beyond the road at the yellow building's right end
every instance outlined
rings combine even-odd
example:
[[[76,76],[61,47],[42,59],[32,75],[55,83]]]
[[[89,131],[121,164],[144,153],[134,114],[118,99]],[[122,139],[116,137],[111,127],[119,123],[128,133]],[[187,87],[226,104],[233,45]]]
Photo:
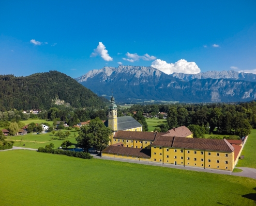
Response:
[[[256,129],[252,129],[241,153],[245,158],[238,160],[237,167],[256,168]]]

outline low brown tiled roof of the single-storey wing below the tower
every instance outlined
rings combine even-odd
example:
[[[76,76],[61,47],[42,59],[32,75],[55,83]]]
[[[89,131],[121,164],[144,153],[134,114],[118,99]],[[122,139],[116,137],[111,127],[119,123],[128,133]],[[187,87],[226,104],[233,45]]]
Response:
[[[131,147],[118,147],[118,146],[108,146],[106,149],[103,149],[103,153],[114,153],[118,155],[128,155],[134,157],[143,157],[150,158],[150,149],[140,149],[140,148],[131,148]]]

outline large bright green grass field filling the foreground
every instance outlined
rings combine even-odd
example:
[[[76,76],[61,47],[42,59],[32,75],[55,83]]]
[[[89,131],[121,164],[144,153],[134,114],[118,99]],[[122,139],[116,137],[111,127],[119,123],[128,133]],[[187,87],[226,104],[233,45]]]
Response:
[[[254,179],[28,150],[0,152],[0,177],[1,205],[255,205],[256,200]]]

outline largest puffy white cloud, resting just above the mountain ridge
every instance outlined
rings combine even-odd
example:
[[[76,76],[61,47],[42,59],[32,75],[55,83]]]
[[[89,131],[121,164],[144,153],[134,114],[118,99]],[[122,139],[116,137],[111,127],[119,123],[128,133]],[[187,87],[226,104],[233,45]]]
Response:
[[[174,72],[184,74],[198,74],[201,72],[195,62],[187,62],[185,59],[180,59],[175,63],[167,63],[161,59],[152,62],[151,66],[164,72],[165,74],[172,74]]]

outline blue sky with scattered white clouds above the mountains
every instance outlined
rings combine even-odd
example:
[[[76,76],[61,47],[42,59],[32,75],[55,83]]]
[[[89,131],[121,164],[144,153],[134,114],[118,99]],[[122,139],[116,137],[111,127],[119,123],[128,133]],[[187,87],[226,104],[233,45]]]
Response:
[[[165,73],[255,73],[255,11],[254,0],[3,0],[0,74],[79,77],[120,62]]]

